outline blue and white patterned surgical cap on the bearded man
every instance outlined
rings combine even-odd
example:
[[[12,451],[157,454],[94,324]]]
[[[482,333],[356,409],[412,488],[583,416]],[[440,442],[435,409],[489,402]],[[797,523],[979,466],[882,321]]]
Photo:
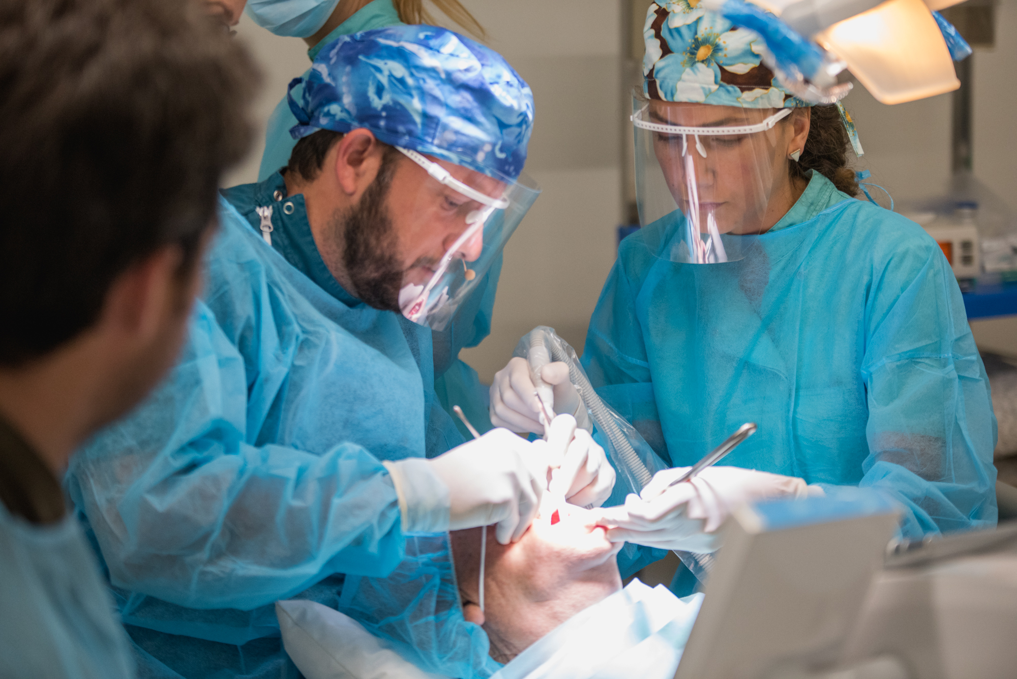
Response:
[[[451,30],[398,25],[343,36],[325,46],[303,81],[295,139],[319,129],[370,130],[497,178],[526,163],[533,92],[496,52]]]

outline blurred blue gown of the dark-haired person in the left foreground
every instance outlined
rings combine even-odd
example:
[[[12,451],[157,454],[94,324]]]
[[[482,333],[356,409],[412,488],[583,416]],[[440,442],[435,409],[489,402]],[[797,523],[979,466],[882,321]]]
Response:
[[[134,676],[126,635],[73,515],[39,526],[0,502],[0,676]]]

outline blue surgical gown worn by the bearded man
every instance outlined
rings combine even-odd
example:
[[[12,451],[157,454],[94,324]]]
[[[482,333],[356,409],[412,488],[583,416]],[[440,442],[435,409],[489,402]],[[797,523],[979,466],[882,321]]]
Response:
[[[276,210],[279,250],[221,201],[180,360],[79,451],[68,491],[142,675],[296,676],[273,602],[312,599],[383,633],[369,615],[379,591],[446,644],[418,644],[429,669],[489,674],[486,636],[429,556],[446,537],[410,549],[380,462],[463,440],[434,406],[430,332],[315,283],[302,201],[284,201],[300,205],[293,221]]]

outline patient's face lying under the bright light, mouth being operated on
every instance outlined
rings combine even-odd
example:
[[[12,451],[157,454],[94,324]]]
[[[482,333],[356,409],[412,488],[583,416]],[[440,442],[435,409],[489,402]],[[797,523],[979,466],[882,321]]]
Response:
[[[621,589],[611,543],[585,509],[551,523],[538,517],[517,543],[487,531],[484,611],[479,607],[481,529],[452,533],[466,619],[484,627],[491,657],[507,663],[559,624]]]

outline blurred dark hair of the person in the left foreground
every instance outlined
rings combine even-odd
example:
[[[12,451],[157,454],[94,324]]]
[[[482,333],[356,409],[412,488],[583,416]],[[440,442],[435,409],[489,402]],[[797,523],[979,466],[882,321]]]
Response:
[[[194,265],[257,79],[193,0],[0,2],[0,366],[91,327],[160,248]]]

